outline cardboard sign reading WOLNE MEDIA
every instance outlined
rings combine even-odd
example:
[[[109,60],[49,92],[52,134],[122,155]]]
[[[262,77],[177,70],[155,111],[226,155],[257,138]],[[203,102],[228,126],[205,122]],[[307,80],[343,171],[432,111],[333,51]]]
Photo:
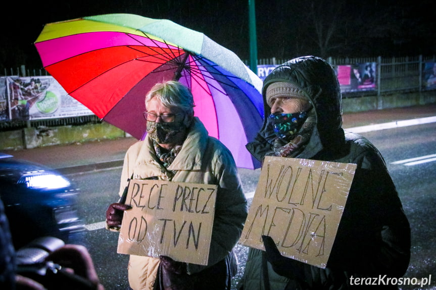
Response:
[[[265,157],[240,243],[325,268],[356,164]]]

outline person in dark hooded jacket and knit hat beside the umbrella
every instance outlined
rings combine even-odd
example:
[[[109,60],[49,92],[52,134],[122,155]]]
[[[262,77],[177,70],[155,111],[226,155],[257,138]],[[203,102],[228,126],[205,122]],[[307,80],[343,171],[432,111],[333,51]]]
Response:
[[[257,159],[306,158],[355,163],[357,169],[326,267],[283,257],[273,239],[263,236],[265,251],[249,250],[238,289],[354,289],[368,285],[356,285],[351,277],[403,276],[410,260],[409,222],[379,151],[342,129],[333,68],[314,56],[290,60],[265,78],[262,95],[266,118],[247,144]]]

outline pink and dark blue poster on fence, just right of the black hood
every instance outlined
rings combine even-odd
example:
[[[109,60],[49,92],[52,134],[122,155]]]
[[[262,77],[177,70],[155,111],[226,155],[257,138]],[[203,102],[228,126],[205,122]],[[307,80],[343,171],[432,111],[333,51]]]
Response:
[[[342,92],[376,89],[376,63],[336,66],[335,69]]]

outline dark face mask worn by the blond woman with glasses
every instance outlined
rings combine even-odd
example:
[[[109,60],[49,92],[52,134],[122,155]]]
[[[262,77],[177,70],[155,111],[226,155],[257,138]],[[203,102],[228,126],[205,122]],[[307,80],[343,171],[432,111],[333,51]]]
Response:
[[[187,128],[183,120],[172,123],[147,121],[147,134],[158,144],[182,144],[186,138]]]

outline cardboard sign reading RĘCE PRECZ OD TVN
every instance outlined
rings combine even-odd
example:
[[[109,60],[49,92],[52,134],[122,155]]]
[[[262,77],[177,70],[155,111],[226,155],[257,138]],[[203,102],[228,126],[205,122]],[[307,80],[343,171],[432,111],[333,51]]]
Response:
[[[207,265],[216,185],[131,180],[118,253]]]

